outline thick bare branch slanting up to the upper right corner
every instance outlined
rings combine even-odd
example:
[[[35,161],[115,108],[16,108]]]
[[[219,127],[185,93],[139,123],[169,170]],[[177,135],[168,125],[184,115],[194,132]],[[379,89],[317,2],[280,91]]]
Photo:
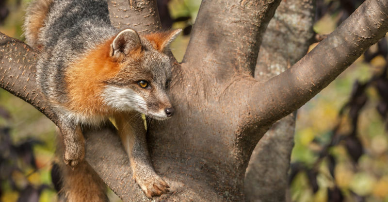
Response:
[[[365,1],[290,69],[264,84],[254,84],[250,91],[259,93],[251,96],[248,103],[259,125],[271,124],[301,107],[387,31],[388,0]]]

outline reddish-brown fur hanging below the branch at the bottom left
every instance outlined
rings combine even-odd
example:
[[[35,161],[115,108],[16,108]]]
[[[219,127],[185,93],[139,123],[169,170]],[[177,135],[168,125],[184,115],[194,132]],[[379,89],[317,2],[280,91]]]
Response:
[[[109,202],[106,185],[96,171],[86,161],[81,161],[75,169],[66,166],[62,160],[63,149],[63,142],[59,142],[56,152],[61,179],[59,202]]]

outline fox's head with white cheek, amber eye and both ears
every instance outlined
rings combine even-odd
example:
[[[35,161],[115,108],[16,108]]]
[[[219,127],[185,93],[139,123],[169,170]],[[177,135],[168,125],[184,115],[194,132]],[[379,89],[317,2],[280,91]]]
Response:
[[[174,114],[166,94],[170,83],[171,63],[164,54],[181,30],[139,35],[126,29],[117,34],[109,56],[119,70],[105,82],[103,99],[118,111],[138,111],[163,120]]]

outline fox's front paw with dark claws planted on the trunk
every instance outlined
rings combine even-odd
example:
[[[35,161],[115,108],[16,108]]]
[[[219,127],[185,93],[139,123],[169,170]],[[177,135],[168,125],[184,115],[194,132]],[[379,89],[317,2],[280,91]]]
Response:
[[[164,180],[154,173],[152,176],[142,177],[135,176],[135,181],[142,188],[148,199],[151,199],[153,196],[160,196],[168,192],[170,186],[167,185]]]

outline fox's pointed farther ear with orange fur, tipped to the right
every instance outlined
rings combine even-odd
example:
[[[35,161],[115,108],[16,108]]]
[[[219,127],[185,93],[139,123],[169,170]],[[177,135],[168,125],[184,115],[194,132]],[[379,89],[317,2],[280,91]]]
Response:
[[[150,41],[154,48],[160,52],[164,52],[166,48],[177,38],[177,36],[182,32],[182,29],[172,30],[168,32],[160,32],[147,34],[145,37]]]

